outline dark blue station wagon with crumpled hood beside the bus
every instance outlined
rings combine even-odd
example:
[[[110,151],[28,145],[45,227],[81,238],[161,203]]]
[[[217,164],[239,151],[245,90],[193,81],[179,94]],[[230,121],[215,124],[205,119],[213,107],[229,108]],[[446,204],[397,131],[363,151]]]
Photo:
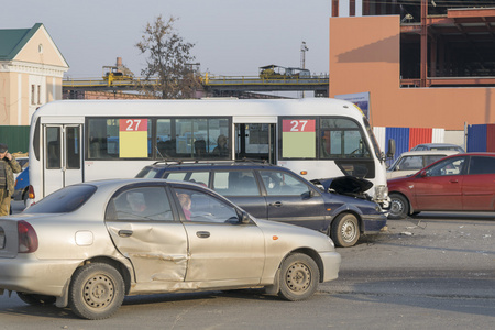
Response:
[[[353,177],[333,180],[333,186],[349,187],[352,196],[344,196],[343,189],[338,194],[330,185],[321,190],[290,169],[255,162],[156,162],[136,177],[202,184],[258,219],[321,231],[339,246],[354,245],[362,233],[378,233],[387,220],[376,202],[359,194],[373,184]]]

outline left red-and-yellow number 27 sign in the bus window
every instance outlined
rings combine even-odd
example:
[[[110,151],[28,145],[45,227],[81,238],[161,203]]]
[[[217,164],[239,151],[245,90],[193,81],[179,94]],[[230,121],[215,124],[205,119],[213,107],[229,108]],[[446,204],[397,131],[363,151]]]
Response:
[[[119,120],[119,156],[147,157],[147,119]]]

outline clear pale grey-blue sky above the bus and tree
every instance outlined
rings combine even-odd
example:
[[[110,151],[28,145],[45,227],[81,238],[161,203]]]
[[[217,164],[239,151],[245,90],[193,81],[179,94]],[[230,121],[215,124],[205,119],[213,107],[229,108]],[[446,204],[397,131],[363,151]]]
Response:
[[[43,23],[68,62],[67,77],[100,77],[102,66],[122,57],[141,76],[145,57],[135,44],[160,14],[174,26],[201,72],[256,76],[258,67],[300,66],[327,74],[331,0],[2,0],[0,29]]]

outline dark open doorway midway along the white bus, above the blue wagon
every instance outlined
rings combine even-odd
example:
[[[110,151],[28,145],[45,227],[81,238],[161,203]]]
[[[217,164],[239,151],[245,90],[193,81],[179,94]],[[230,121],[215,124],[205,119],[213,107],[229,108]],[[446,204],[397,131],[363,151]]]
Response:
[[[276,164],[274,123],[237,123],[235,160],[260,160]]]

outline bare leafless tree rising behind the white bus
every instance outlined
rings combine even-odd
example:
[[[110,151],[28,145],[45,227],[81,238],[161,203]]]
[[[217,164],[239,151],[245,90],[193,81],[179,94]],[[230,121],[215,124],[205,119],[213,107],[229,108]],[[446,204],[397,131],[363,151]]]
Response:
[[[135,46],[145,54],[146,67],[141,70],[145,77],[143,91],[161,99],[193,98],[200,88],[200,78],[191,64],[196,59],[190,55],[195,46],[186,43],[173,28],[176,18],[164,21],[162,15],[146,24],[141,42]]]

